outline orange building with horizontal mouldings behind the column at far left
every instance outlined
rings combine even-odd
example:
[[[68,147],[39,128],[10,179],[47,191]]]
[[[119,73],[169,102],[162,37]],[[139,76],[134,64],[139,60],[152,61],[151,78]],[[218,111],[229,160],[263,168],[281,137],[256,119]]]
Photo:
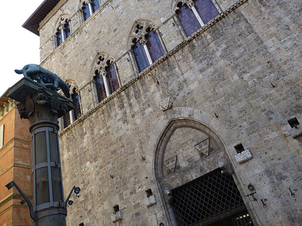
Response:
[[[28,120],[21,120],[16,101],[0,97],[0,225],[32,225],[26,205],[16,188],[5,185],[14,180],[32,200],[31,135]]]

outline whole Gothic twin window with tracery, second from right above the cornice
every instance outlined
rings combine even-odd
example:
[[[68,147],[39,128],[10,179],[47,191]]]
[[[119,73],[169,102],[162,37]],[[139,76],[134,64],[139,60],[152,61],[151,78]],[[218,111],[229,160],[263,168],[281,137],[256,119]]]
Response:
[[[148,21],[137,22],[131,35],[130,47],[138,72],[165,54],[158,32]]]

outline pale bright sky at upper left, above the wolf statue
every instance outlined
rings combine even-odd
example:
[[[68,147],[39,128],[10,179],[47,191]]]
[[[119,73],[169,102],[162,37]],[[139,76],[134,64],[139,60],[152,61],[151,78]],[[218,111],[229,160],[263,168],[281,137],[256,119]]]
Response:
[[[0,14],[0,96],[23,77],[16,74],[15,69],[22,69],[30,63],[40,63],[39,36],[22,28],[22,25],[42,2],[43,0],[17,0],[14,1],[13,11],[7,8]]]

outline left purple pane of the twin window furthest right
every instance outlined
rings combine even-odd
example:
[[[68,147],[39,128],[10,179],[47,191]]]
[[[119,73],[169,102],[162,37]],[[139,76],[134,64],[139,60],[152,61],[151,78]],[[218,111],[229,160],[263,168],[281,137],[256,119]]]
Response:
[[[179,6],[177,11],[177,16],[180,21],[181,26],[185,30],[187,36],[192,35],[198,29],[201,28],[197,18],[195,17],[193,11],[187,6]]]

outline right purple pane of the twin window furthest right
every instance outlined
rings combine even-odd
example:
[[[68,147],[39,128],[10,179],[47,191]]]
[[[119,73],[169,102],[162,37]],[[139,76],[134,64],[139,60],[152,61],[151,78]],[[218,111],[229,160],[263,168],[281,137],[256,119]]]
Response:
[[[211,0],[196,0],[194,1],[196,11],[198,12],[204,24],[211,21],[219,15],[216,7]]]

